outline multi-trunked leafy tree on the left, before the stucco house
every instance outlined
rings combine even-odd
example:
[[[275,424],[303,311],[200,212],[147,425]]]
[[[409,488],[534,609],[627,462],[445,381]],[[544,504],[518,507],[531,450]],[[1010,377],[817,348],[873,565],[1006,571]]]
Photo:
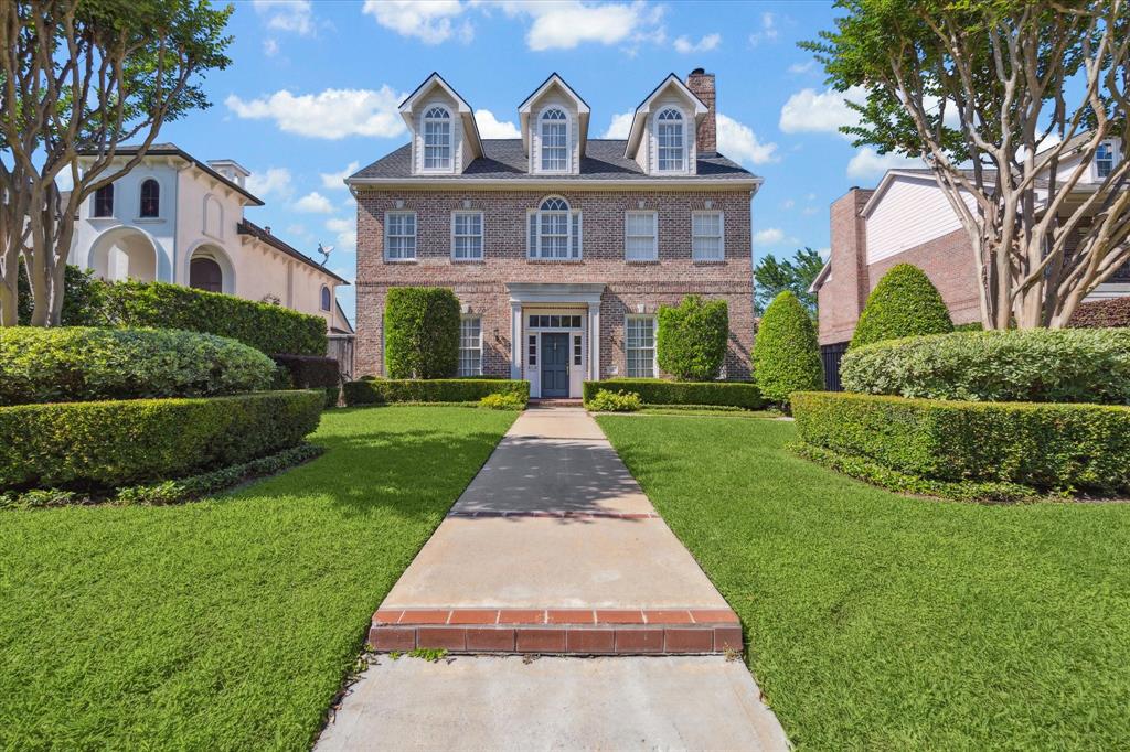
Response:
[[[231,62],[231,15],[208,0],[0,2],[0,324],[16,323],[21,255],[32,324],[59,323],[79,204],[132,169],[163,123],[209,105],[201,79]],[[131,139],[140,148],[118,157]],[[81,172],[79,152],[92,155]]]

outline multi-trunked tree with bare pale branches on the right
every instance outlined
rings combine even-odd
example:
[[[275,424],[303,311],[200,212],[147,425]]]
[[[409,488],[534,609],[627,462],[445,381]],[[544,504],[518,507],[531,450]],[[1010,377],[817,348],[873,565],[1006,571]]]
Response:
[[[982,323],[1063,326],[1130,260],[1130,0],[837,0],[816,52],[880,154],[921,157],[960,218]],[[1080,190],[1083,187],[1083,190]]]

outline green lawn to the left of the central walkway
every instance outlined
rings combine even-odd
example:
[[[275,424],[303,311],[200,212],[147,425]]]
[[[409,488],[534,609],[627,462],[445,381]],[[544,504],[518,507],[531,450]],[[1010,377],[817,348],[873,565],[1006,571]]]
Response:
[[[331,411],[323,456],[231,496],[0,513],[0,749],[307,749],[514,416]]]

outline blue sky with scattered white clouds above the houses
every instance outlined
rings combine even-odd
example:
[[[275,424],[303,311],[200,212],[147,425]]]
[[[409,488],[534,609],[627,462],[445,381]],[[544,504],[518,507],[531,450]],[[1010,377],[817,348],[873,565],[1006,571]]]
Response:
[[[355,277],[355,208],[341,177],[406,143],[397,106],[433,70],[476,110],[484,137],[516,134],[518,105],[551,71],[592,107],[590,137],[617,137],[669,72],[718,76],[719,149],[765,177],[758,255],[828,245],[828,204],[897,157],[836,128],[843,96],[797,42],[829,28],[823,2],[236,2],[233,64],[210,73],[212,107],[160,139],[232,158],[266,202],[247,217]],[[857,94],[858,96],[858,94]],[[485,112],[480,112],[485,111]],[[342,289],[351,316],[351,288]]]

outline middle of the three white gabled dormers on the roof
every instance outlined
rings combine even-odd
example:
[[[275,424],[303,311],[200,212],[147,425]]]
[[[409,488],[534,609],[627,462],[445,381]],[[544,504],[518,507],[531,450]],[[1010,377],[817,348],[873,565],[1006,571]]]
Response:
[[[588,103],[557,73],[519,105],[522,148],[536,175],[579,175],[589,139]]]

